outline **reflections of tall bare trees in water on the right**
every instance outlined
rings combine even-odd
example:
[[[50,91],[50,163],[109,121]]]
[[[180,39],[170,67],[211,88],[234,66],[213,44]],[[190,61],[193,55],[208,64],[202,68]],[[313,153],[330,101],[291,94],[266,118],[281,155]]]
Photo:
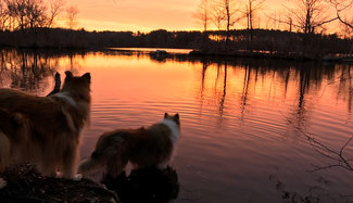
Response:
[[[240,107],[239,117],[243,119],[249,101],[257,97],[257,89],[262,94],[266,94],[268,100],[287,100],[288,97],[297,98],[297,104],[290,107],[290,117],[298,124],[306,120],[307,110],[313,107],[312,97],[307,94],[320,96],[326,84],[335,80],[337,75],[341,75],[338,86],[333,87],[333,92],[342,97],[348,102],[348,110],[352,107],[352,77],[351,66],[341,64],[322,64],[316,62],[295,62],[270,61],[270,60],[210,60],[201,59],[201,90],[200,102],[201,109],[204,104],[217,103],[217,115],[222,119],[227,106],[238,103]],[[229,71],[231,71],[229,73]],[[219,85],[219,78],[223,84]],[[228,85],[230,83],[230,87]],[[261,84],[259,84],[261,83]],[[212,85],[214,84],[214,85]],[[235,86],[236,87],[232,87]],[[215,92],[210,91],[214,86]],[[237,92],[234,92],[234,89]],[[269,88],[269,89],[268,89]],[[232,92],[227,92],[232,91]],[[272,91],[280,91],[277,96],[272,96]],[[229,94],[230,93],[230,94]],[[239,101],[237,97],[239,94]],[[230,96],[226,102],[226,96]],[[277,98],[275,98],[277,97]],[[266,98],[262,98],[266,99]],[[337,98],[339,99],[339,98]],[[308,102],[310,101],[310,102]],[[278,110],[279,111],[279,110]],[[230,113],[230,112],[227,112]]]

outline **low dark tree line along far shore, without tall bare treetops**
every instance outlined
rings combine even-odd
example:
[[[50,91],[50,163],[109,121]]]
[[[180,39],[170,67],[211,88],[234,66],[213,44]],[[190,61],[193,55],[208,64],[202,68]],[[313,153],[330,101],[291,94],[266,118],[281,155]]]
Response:
[[[87,31],[85,29],[37,28],[0,31],[0,47],[15,48],[186,48],[203,54],[261,55],[287,59],[322,59],[329,54],[349,54],[352,39],[337,35],[291,33],[287,30],[248,29],[210,31]],[[226,42],[226,38],[228,42]],[[251,51],[249,51],[251,50]]]

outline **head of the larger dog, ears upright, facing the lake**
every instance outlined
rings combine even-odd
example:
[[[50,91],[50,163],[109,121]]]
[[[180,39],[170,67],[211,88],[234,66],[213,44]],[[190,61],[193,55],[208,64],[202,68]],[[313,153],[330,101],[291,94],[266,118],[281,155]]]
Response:
[[[90,74],[86,73],[83,76],[74,76],[73,73],[67,71],[65,75],[66,77],[61,91],[67,91],[76,94],[80,99],[90,101]]]

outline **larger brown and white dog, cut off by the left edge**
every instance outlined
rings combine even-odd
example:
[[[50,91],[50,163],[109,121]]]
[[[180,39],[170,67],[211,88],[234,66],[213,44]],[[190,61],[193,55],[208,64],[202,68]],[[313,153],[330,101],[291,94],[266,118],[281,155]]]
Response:
[[[0,174],[12,163],[29,162],[43,175],[60,170],[74,178],[79,135],[89,120],[90,74],[65,74],[62,89],[48,97],[0,89]],[[0,178],[0,188],[5,185]]]

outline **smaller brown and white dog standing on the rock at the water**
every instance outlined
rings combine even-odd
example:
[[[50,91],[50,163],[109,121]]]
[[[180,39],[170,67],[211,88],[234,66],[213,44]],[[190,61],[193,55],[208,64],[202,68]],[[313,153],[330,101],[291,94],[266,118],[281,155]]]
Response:
[[[115,178],[128,162],[133,169],[151,166],[163,169],[171,160],[179,132],[179,114],[169,116],[167,113],[162,122],[147,128],[105,132],[99,138],[91,156],[79,165],[78,173],[87,176],[104,168],[106,176]]]

